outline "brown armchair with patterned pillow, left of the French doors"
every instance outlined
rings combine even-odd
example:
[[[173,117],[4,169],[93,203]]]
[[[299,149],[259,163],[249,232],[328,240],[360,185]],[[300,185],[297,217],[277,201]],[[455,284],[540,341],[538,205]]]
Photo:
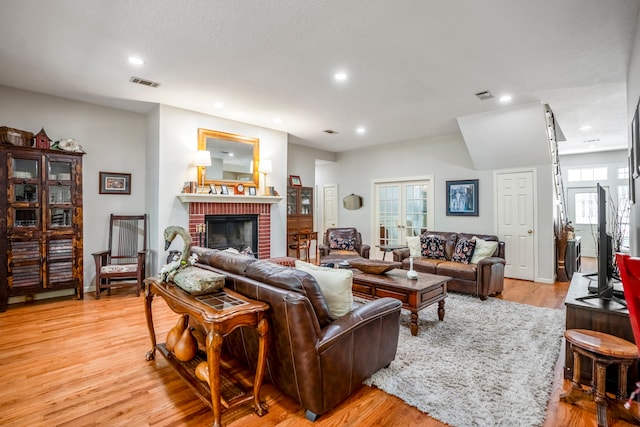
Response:
[[[320,262],[340,262],[351,258],[369,258],[371,246],[362,243],[362,235],[353,227],[328,228],[318,246]]]

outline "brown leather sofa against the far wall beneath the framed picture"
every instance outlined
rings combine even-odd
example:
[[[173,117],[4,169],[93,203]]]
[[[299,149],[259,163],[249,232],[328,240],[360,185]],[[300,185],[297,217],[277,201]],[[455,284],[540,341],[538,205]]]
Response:
[[[445,258],[431,259],[415,257],[413,269],[418,272],[450,276],[447,282],[447,290],[478,295],[481,300],[486,300],[489,295],[495,295],[504,289],[504,242],[497,236],[486,234],[452,233],[442,231],[423,231],[422,235],[436,235],[445,241]],[[478,264],[463,264],[451,261],[458,239],[471,239],[477,236],[483,240],[498,242],[493,255],[484,258]],[[393,251],[393,260],[402,262],[402,268],[409,269],[409,249]]]

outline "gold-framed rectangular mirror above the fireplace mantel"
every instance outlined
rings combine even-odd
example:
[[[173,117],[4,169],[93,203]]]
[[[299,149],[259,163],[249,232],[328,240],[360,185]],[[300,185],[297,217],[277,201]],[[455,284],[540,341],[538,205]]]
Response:
[[[260,140],[248,136],[198,128],[198,150],[211,154],[211,166],[198,168],[204,184],[243,183],[259,187]]]

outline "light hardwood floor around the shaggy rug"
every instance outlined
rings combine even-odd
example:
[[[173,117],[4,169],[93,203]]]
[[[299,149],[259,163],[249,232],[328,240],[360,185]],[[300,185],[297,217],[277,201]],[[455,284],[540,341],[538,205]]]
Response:
[[[545,285],[507,279],[501,298],[563,308],[567,289],[568,283]],[[154,320],[159,337],[176,319],[156,298]],[[145,361],[150,340],[143,297],[136,298],[131,290],[114,290],[100,300],[88,294],[83,301],[12,305],[0,313],[0,330],[2,426],[211,425],[208,406],[160,355],[155,361]],[[558,401],[561,388],[568,387],[562,378],[563,355],[564,350],[556,366],[544,426],[595,425],[592,404],[582,409]],[[235,368],[246,375],[241,367]],[[304,410],[272,385],[265,384],[261,395],[269,404],[267,415],[260,418],[247,405],[225,412],[224,425],[445,426],[400,399],[366,386],[315,423],[305,420]]]

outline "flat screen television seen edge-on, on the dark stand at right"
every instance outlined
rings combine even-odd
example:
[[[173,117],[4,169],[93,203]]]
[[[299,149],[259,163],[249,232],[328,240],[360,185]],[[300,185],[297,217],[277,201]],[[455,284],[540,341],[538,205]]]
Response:
[[[598,233],[597,233],[597,261],[598,272],[585,274],[584,277],[590,279],[589,293],[577,300],[599,298],[607,301],[615,301],[626,307],[624,293],[620,280],[614,277],[613,272],[613,237],[607,231],[607,192],[599,183],[596,185],[598,203]],[[616,289],[617,287],[617,289]]]

